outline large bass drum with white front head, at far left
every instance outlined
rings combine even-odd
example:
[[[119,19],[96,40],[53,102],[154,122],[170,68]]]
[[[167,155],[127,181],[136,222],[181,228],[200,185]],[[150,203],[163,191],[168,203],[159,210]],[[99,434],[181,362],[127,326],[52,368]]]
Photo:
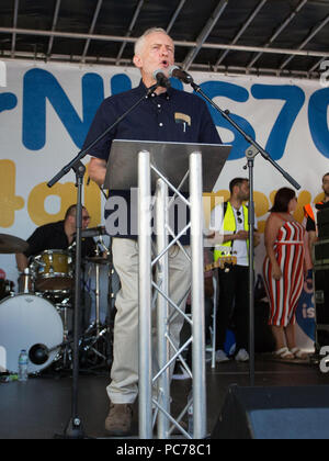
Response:
[[[29,373],[47,368],[60,350],[63,334],[61,318],[49,301],[33,294],[18,294],[0,302],[0,346],[4,351],[1,366],[7,371],[18,373],[21,350],[30,353],[38,345],[48,349],[47,360],[38,364],[30,358]]]

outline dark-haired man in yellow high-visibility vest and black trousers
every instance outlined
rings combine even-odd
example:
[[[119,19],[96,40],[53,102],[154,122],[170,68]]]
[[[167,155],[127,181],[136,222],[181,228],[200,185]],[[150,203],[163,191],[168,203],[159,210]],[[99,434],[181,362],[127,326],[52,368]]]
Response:
[[[209,229],[214,233],[214,259],[227,258],[228,255],[237,257],[237,263],[229,270],[218,269],[219,303],[217,308],[216,328],[216,361],[228,361],[224,351],[226,331],[230,321],[234,321],[236,333],[237,361],[249,361],[248,333],[249,333],[249,225],[248,206],[250,198],[249,180],[235,178],[229,184],[230,198],[227,202],[217,205],[211,215]],[[254,221],[256,222],[256,221]],[[254,245],[259,244],[259,234],[254,234]]]

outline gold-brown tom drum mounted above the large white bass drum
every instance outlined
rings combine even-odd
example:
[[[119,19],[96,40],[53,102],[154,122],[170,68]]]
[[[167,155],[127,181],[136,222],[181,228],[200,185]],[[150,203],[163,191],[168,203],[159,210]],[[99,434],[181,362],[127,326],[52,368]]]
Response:
[[[73,288],[72,258],[69,251],[46,250],[32,262],[35,291],[53,292]]]

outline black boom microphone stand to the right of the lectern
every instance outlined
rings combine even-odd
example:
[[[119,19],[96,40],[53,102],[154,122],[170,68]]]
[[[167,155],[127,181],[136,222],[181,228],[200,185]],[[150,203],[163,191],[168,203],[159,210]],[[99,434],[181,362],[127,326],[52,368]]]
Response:
[[[229,111],[223,111],[211,98],[208,98],[204,91],[201,89],[198,85],[196,85],[193,78],[189,76],[189,80],[186,81],[192,86],[196,93],[200,93],[216,111],[218,111],[222,116],[230,123],[250,144],[250,147],[246,150],[247,157],[247,166],[245,169],[249,169],[249,185],[250,185],[250,201],[248,207],[248,225],[249,225],[249,348],[250,348],[250,368],[249,368],[249,378],[250,378],[250,385],[254,385],[254,245],[253,245],[253,236],[254,236],[254,201],[253,201],[253,167],[254,167],[254,158],[258,154],[270,161],[270,164],[281,172],[281,175],[297,190],[300,189],[300,185],[283,169],[280,165],[274,161],[270,154],[266,153],[251,136],[249,136],[230,116]]]

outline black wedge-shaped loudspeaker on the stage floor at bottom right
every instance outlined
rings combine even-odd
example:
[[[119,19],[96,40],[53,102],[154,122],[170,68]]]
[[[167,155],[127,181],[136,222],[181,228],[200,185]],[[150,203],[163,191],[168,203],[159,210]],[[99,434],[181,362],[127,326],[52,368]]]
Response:
[[[328,439],[329,386],[228,389],[212,439]]]

